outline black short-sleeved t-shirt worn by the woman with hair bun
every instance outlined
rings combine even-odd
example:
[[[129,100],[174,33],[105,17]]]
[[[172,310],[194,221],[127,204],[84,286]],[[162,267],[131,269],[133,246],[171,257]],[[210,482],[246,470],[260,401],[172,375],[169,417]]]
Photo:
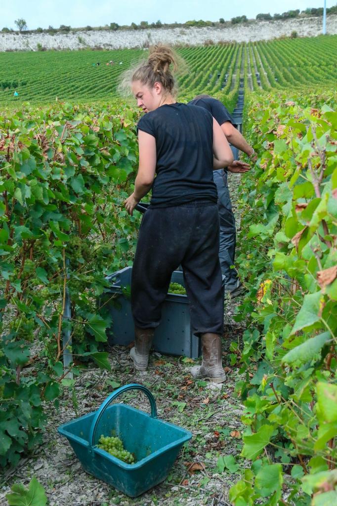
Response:
[[[217,202],[213,182],[213,117],[201,107],[165,104],[138,122],[156,140],[151,207]]]

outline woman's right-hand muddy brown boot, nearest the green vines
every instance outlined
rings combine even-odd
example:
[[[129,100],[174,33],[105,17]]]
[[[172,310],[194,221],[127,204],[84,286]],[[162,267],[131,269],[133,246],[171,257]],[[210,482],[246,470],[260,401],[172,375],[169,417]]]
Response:
[[[190,368],[194,378],[203,378],[215,383],[222,383],[226,379],[222,367],[221,337],[218,334],[207,332],[201,335],[202,362]]]

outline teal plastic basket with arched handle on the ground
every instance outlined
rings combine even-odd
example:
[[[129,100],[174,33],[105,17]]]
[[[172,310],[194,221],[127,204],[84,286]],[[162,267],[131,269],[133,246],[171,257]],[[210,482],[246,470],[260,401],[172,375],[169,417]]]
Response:
[[[151,415],[127,404],[111,404],[129,390],[144,392],[151,405]],[[65,436],[83,469],[130,497],[137,497],[158,485],[168,475],[182,445],[192,434],[157,418],[156,402],[151,392],[136,383],[118,388],[98,411],[63,424],[58,432]],[[136,457],[127,464],[96,446],[101,434],[112,433],[124,448]]]

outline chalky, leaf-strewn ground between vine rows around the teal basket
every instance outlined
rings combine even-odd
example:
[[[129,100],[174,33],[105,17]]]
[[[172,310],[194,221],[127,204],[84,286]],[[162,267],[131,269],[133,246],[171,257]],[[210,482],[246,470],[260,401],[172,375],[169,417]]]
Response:
[[[234,212],[239,176],[229,178]],[[238,218],[238,216],[237,216]],[[48,426],[44,444],[23,458],[18,467],[0,478],[0,504],[7,505],[6,494],[14,483],[27,485],[35,476],[45,487],[50,506],[123,505],[219,505],[229,506],[228,490],[236,474],[217,469],[220,455],[237,455],[241,448],[242,406],[233,394],[239,379],[236,368],[227,361],[228,346],[236,341],[242,329],[232,320],[234,301],[226,300],[224,366],[228,379],[223,385],[194,382],[189,374],[191,359],[152,354],[146,372],[135,371],[129,348],[110,349],[112,371],[86,369],[76,378],[75,410],[71,391],[64,389],[60,407],[46,405]],[[141,497],[131,499],[85,473],[68,442],[58,435],[57,427],[77,416],[97,410],[109,393],[119,385],[140,383],[153,393],[161,419],[190,430],[193,438],[180,452],[167,479]],[[131,392],[119,398],[149,411],[143,394]],[[144,407],[146,406],[146,407]],[[76,412],[77,411],[77,412]],[[139,435],[141,437],[141,434]],[[191,463],[202,462],[202,470],[191,471]],[[189,472],[190,469],[190,472]]]

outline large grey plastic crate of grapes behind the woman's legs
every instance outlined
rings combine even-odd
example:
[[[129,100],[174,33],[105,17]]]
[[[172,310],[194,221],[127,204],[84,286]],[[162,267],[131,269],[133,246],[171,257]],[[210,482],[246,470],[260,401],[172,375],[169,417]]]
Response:
[[[131,312],[130,298],[125,296],[122,287],[131,286],[132,267],[125,267],[107,277],[111,288],[102,298],[116,297],[108,303],[107,309],[112,318],[112,325],[107,329],[109,344],[129,345],[135,340],[134,320]],[[181,271],[174,271],[171,281],[184,286]],[[223,290],[225,288],[223,282]],[[102,301],[101,298],[101,302]],[[201,355],[200,340],[191,331],[190,311],[186,295],[168,293],[162,306],[161,322],[154,333],[155,351],[169,355],[184,355],[197,358]]]

